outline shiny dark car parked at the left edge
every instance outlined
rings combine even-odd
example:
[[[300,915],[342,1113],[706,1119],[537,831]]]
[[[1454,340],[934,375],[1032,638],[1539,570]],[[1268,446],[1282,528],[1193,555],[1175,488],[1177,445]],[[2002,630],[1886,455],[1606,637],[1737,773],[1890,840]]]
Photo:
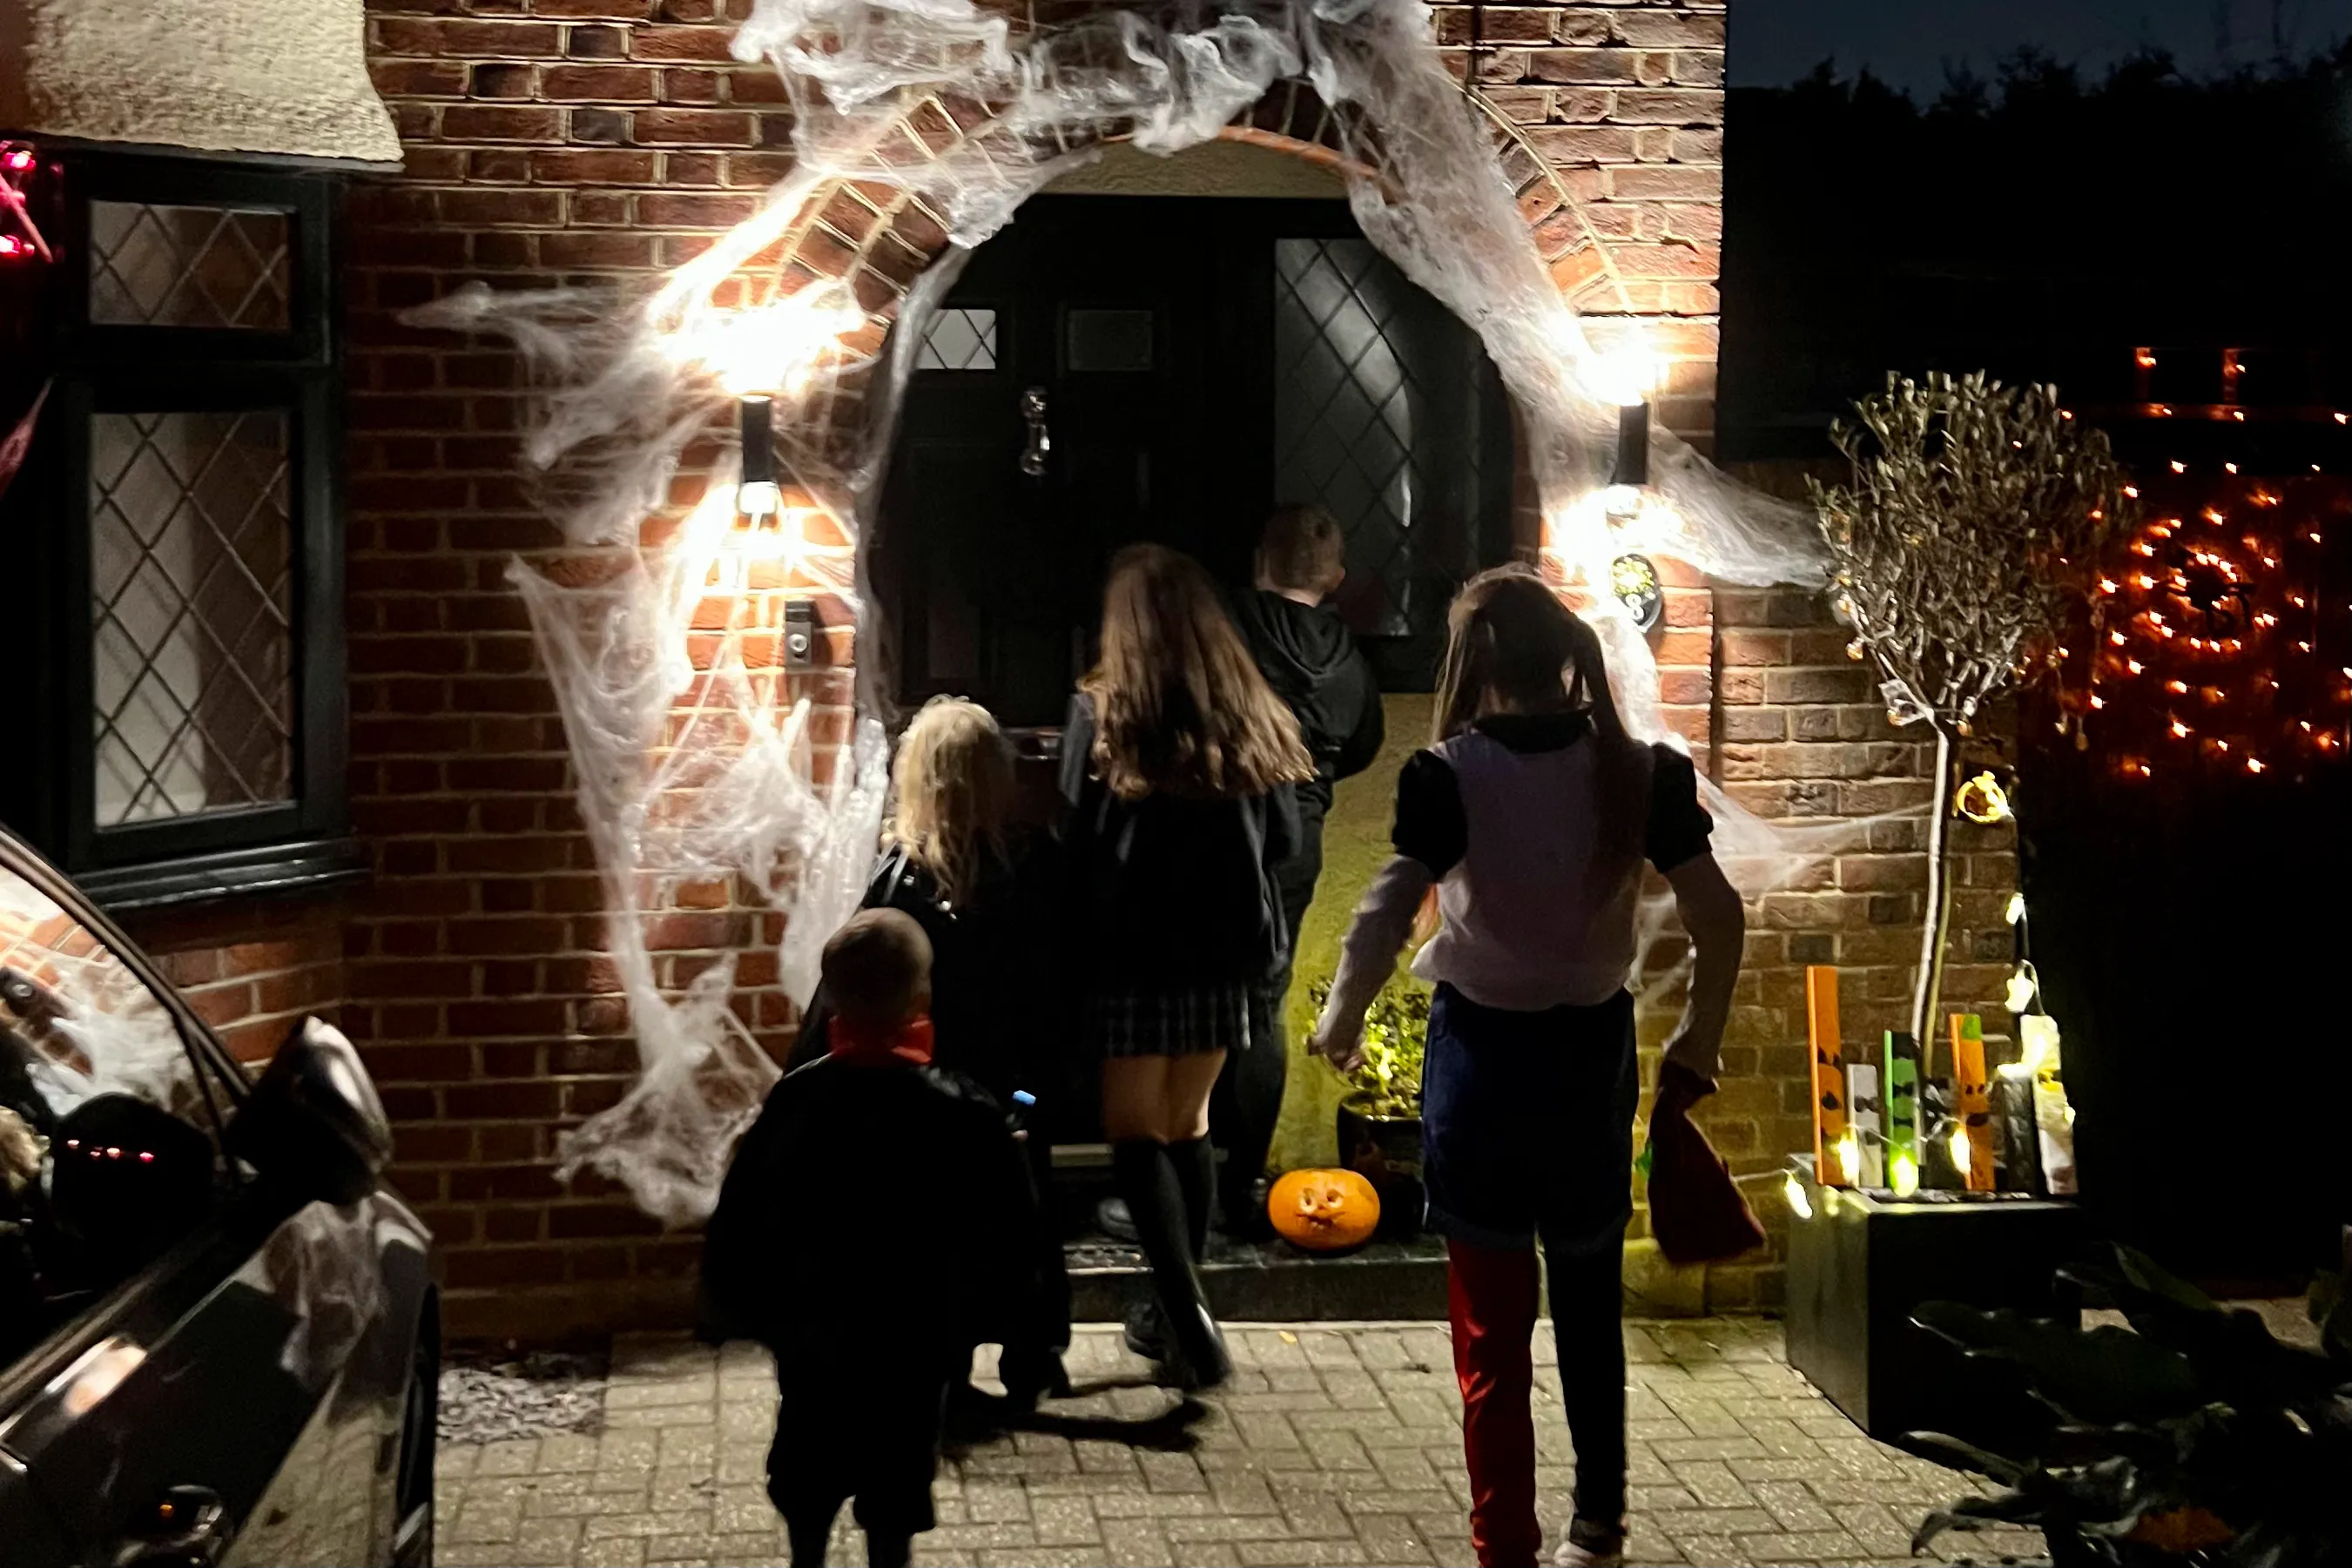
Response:
[[[0,832],[0,1566],[428,1563],[440,1307],[303,1020],[247,1074]]]

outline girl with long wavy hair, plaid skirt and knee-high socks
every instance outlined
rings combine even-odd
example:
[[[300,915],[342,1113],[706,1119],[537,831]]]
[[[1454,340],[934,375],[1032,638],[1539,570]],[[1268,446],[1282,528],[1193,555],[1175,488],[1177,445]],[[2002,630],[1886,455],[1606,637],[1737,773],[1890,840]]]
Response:
[[[1101,649],[1063,729],[1075,973],[1112,1180],[1152,1272],[1129,1345],[1204,1387],[1232,1371],[1197,1272],[1209,1091],[1228,1056],[1282,1048],[1254,1037],[1251,994],[1289,961],[1272,867],[1296,853],[1294,785],[1315,764],[1197,562],[1124,550]]]

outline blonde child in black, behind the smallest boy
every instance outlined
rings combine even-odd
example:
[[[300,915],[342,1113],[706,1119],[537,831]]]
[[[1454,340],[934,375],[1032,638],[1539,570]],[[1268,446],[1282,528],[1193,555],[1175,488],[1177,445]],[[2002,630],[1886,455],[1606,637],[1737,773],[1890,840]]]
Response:
[[[891,818],[861,905],[898,910],[922,926],[931,940],[934,1060],[976,1079],[1000,1105],[1016,1093],[1054,1098],[1068,1077],[1073,1027],[1049,936],[1058,919],[1058,846],[1011,820],[1014,790],[1011,743],[985,708],[948,696],[924,703],[891,759]],[[788,1065],[826,1053],[828,1011],[818,987]],[[1023,1150],[1042,1199],[1051,1143],[1028,1138]],[[1000,1361],[1016,1410],[1070,1387],[1061,1366],[1070,1274],[1049,1208],[1040,1201],[1033,1213],[1037,1316]]]

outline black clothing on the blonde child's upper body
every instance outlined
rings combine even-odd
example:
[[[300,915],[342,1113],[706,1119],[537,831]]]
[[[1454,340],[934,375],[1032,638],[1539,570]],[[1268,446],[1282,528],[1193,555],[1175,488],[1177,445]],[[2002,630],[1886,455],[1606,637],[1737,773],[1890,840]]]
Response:
[[[1058,898],[1061,846],[1042,832],[1021,832],[955,907],[941,903],[931,872],[891,844],[858,905],[910,914],[931,938],[934,1063],[969,1074],[1000,1103],[1016,1088],[1035,1095],[1061,1088],[1070,1020],[1054,940]],[[818,987],[790,1067],[826,1053],[828,1013]]]

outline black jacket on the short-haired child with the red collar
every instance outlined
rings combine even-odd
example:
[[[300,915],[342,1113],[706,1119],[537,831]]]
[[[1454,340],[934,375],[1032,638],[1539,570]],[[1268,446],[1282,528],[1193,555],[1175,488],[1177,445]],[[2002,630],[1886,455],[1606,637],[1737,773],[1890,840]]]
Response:
[[[889,1345],[960,1375],[1033,1312],[1033,1204],[1021,1145],[971,1079],[814,1060],[769,1091],[727,1168],[703,1338],[779,1356]]]

